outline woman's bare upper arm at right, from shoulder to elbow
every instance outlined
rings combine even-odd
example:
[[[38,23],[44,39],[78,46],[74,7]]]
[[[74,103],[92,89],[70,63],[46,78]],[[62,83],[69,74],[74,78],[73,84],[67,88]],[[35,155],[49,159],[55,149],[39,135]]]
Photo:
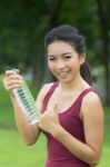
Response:
[[[103,109],[100,97],[94,91],[89,91],[82,99],[81,120],[83,124],[84,138],[98,158],[101,155],[103,140]]]

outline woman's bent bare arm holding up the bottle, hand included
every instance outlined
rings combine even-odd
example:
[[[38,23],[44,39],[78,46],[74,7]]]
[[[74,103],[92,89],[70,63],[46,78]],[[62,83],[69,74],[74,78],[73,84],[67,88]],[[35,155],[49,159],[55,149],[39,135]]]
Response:
[[[16,97],[12,94],[13,88],[18,88],[22,86],[22,77],[19,75],[16,75],[13,71],[7,71],[4,76],[4,87],[9,91],[12,105],[13,105],[13,110],[14,110],[14,119],[16,119],[16,125],[18,127],[18,130],[23,139],[23,141],[27,145],[33,145],[40,134],[40,128],[38,124],[30,125],[28,124]],[[41,95],[39,94],[39,98],[37,99],[37,106],[40,110],[41,106]]]

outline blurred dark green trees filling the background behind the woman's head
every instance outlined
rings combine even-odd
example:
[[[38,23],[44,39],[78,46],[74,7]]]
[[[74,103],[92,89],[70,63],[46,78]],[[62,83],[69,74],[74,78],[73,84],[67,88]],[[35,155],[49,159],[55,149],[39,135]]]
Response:
[[[107,102],[110,105],[110,1],[109,0],[3,0],[0,1],[0,70],[13,66],[32,69],[33,85],[50,77],[44,57],[46,32],[71,23],[87,37],[91,66],[106,69]]]

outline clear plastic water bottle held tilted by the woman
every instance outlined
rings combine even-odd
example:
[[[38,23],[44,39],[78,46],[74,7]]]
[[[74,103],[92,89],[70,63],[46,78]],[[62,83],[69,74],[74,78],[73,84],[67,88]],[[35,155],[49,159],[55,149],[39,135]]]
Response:
[[[19,73],[18,69],[12,69],[12,71]],[[17,98],[19,106],[21,107],[28,122],[31,125],[38,122],[40,118],[40,112],[37,109],[34,99],[26,81],[23,81],[22,87],[13,89],[13,95]]]

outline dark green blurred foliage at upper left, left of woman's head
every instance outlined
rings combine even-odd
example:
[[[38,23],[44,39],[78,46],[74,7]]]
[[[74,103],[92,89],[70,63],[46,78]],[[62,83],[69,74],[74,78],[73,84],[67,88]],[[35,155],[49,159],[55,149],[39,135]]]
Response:
[[[47,8],[42,8],[44,4],[43,0],[0,2],[0,70],[6,68],[6,65],[31,65],[33,50],[37,53],[36,50],[41,48],[39,36],[42,35],[47,22]]]

